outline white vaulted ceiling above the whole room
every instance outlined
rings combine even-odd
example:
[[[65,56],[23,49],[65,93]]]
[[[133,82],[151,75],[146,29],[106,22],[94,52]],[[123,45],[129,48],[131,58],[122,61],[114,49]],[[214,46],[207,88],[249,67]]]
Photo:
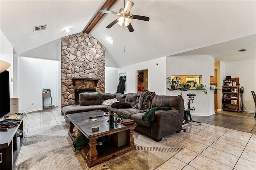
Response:
[[[132,20],[134,32],[124,32],[124,54],[122,27],[106,28],[115,15],[106,14],[90,32],[106,47],[106,57],[119,67],[170,55],[212,55],[216,61],[256,58],[255,0],[132,1],[130,14],[148,16],[150,21]],[[54,42],[59,47],[55,40],[84,30],[104,2],[1,0],[0,29],[19,55],[44,57],[42,45]],[[118,12],[122,6],[119,0],[111,10]],[[46,30],[33,32],[33,26],[43,24],[47,24]],[[65,28],[70,32],[64,32]],[[237,51],[243,48],[248,51]]]

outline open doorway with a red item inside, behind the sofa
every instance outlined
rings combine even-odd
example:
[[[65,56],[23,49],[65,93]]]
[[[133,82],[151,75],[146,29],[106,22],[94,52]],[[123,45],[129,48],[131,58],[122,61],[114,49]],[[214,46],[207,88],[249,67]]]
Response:
[[[148,69],[136,71],[136,93],[148,91]]]

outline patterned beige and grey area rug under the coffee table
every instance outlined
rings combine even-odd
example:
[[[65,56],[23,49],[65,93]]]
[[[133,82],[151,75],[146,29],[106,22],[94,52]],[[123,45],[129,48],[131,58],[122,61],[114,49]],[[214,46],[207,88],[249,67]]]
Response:
[[[34,130],[24,138],[15,170],[86,170],[88,167],[81,154],[73,151],[67,132],[65,125]],[[138,133],[134,133],[134,144],[135,150],[88,169],[153,170],[182,150]]]

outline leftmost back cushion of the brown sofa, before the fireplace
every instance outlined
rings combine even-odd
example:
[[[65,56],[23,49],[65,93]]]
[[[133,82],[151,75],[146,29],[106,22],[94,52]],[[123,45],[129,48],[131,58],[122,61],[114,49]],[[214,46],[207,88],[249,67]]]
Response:
[[[79,94],[79,103],[80,106],[88,106],[88,105],[100,105],[100,93],[98,92],[84,92]]]

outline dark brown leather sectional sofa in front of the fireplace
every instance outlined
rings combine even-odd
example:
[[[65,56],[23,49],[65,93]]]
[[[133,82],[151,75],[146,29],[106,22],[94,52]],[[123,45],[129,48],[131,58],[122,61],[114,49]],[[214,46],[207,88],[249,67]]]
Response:
[[[184,114],[184,101],[178,96],[155,95],[153,97],[153,107],[171,107],[169,111],[155,111],[154,121],[142,121],[142,115],[145,112],[140,113],[138,109],[115,109],[109,105],[102,105],[103,101],[116,98],[118,101],[129,103],[133,106],[136,104],[137,95],[137,93],[80,93],[80,105],[65,106],[62,112],[66,121],[69,121],[66,115],[72,113],[94,110],[102,110],[104,112],[114,111],[119,117],[122,115],[124,119],[134,120],[138,124],[135,130],[152,137],[155,141],[162,140],[162,137],[168,134],[180,132]]]

